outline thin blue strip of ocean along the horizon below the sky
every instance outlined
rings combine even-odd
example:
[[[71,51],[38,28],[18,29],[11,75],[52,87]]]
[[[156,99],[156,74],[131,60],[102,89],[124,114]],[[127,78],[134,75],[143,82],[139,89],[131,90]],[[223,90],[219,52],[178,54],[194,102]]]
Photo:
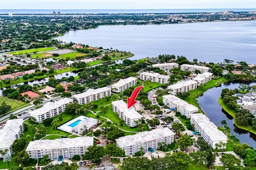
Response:
[[[255,11],[256,8],[206,8],[206,9],[139,9],[139,10],[56,10],[61,14],[99,14],[99,13],[183,13],[183,12],[219,12],[233,10],[236,12]],[[0,14],[52,14],[52,10],[0,10]]]

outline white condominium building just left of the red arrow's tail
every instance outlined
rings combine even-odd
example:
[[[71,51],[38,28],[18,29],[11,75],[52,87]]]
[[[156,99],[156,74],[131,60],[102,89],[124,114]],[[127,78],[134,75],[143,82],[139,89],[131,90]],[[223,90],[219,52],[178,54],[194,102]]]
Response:
[[[136,84],[137,84],[137,78],[130,77],[127,79],[119,80],[117,83],[111,86],[111,89],[114,92],[122,92],[125,89],[135,86]]]

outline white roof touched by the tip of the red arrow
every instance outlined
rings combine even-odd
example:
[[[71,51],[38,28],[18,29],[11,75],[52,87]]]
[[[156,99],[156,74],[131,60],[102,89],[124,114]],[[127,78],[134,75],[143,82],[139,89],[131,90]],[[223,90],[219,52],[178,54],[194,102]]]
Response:
[[[119,110],[122,111],[124,115],[131,120],[142,117],[137,111],[135,111],[133,106],[127,109],[127,104],[123,100],[112,101],[112,105],[117,106]]]

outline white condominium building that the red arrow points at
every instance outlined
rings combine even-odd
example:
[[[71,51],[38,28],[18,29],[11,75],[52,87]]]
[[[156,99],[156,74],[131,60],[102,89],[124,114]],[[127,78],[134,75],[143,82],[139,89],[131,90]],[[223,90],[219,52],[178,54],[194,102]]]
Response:
[[[112,101],[112,110],[131,127],[136,126],[136,121],[142,118],[133,106],[127,109],[127,104],[123,100]]]

